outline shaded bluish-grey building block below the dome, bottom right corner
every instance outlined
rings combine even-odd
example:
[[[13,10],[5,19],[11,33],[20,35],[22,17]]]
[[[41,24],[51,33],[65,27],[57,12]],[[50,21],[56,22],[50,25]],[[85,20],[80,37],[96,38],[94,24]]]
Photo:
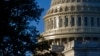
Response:
[[[100,56],[100,41],[74,41],[74,56]]]

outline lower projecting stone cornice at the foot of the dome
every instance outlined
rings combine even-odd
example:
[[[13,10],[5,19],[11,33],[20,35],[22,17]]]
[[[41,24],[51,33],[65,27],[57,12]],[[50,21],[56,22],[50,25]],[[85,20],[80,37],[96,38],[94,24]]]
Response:
[[[62,38],[71,38],[71,37],[73,37],[73,38],[77,38],[77,37],[100,37],[100,33],[99,34],[96,34],[96,33],[94,33],[94,34],[87,34],[87,33],[80,33],[80,34],[72,34],[72,33],[69,33],[69,34],[62,34],[62,35],[44,35],[44,38],[45,38],[45,40],[51,40],[51,39],[62,39]]]

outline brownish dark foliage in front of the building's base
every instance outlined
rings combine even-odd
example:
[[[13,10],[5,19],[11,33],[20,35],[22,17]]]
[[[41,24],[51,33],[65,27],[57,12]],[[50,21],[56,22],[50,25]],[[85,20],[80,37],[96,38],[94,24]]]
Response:
[[[45,40],[43,36],[40,36],[38,38],[39,41],[36,44],[36,53],[35,56],[58,56],[56,52],[53,52],[49,49],[51,49],[51,46],[48,41]]]

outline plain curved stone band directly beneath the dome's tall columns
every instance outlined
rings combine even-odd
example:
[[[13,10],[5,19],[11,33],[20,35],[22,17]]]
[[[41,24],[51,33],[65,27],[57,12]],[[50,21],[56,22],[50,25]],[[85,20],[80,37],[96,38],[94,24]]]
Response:
[[[64,33],[99,33],[100,34],[100,28],[63,28],[59,30],[51,30],[44,32],[43,35],[54,35],[54,34],[64,34]]]

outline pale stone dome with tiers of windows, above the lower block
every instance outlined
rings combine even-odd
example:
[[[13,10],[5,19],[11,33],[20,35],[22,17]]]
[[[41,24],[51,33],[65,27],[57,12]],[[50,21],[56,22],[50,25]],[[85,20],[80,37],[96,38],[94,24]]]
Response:
[[[52,0],[44,21],[44,36],[68,34],[69,37],[98,37],[100,0]]]

